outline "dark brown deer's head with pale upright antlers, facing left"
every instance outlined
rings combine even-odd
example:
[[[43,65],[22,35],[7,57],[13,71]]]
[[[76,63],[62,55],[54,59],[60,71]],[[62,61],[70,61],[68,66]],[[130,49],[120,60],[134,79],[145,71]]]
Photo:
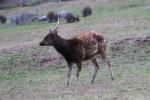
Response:
[[[54,37],[57,36],[58,25],[59,25],[59,18],[58,18],[56,27],[53,30],[50,28],[49,33],[39,43],[40,46],[51,46],[52,45]]]

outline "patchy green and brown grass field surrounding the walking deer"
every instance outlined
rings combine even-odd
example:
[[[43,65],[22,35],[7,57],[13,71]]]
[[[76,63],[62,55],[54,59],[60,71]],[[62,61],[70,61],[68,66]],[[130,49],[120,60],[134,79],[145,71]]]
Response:
[[[74,31],[92,29],[104,32],[104,36],[111,43],[130,36],[150,36],[149,0],[114,0],[92,4],[93,16],[81,17],[79,23],[73,24],[61,21],[59,34],[72,37],[77,34]],[[80,14],[82,5],[71,7],[62,4],[61,8],[70,8],[70,11]],[[59,9],[56,7],[56,10]],[[149,45],[141,47],[131,43],[120,44],[123,49],[119,50],[110,48],[109,56],[115,81],[110,80],[107,65],[99,61],[101,68],[95,83],[90,84],[94,69],[91,62],[87,61],[83,64],[80,83],[76,82],[74,66],[71,84],[65,87],[65,61],[53,48],[37,46],[37,42],[48,33],[48,29],[49,24],[46,22],[18,26],[0,25],[0,100],[150,99]],[[110,47],[112,46],[110,44]],[[42,62],[45,59],[50,61]]]

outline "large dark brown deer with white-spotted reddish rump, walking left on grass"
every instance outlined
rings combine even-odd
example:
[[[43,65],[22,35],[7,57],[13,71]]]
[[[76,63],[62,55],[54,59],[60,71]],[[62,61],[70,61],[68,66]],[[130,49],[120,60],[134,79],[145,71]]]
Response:
[[[97,58],[102,59],[108,64],[111,79],[114,80],[111,62],[106,53],[107,43],[105,42],[104,37],[93,31],[88,31],[79,36],[73,37],[72,39],[66,40],[57,34],[58,24],[59,20],[56,28],[54,30],[50,29],[49,34],[44,37],[39,45],[54,46],[54,48],[64,56],[68,65],[67,86],[69,85],[73,64],[77,65],[76,76],[78,81],[79,73],[82,68],[82,62],[85,60],[91,60],[95,67],[94,75],[91,80],[91,83],[94,83],[99,69],[99,65],[96,61]]]

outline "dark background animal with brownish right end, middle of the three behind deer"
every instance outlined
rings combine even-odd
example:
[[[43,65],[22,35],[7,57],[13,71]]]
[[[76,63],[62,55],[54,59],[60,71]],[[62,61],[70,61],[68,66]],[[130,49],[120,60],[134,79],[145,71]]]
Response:
[[[67,13],[66,16],[65,16],[65,20],[68,23],[73,23],[73,22],[79,22],[80,21],[79,16],[74,16],[72,13]]]

